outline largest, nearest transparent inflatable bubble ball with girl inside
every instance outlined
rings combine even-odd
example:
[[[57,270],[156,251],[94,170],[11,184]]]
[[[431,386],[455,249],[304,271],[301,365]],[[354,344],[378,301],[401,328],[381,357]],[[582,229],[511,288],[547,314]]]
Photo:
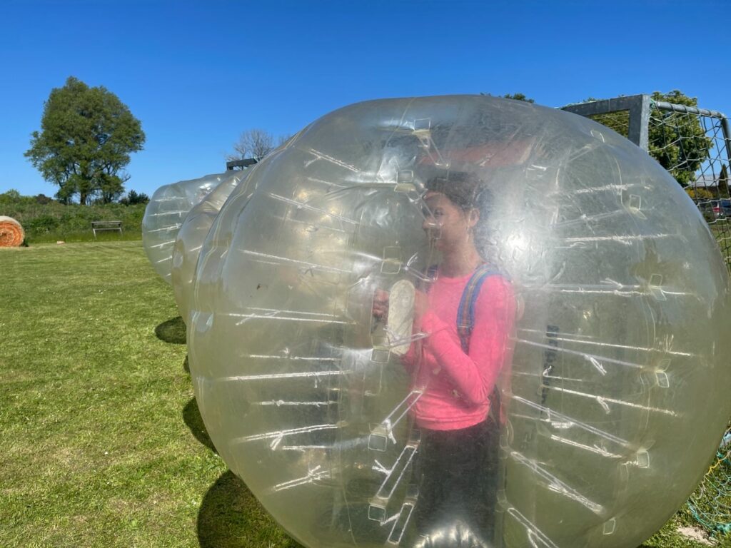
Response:
[[[257,166],[188,343],[221,457],[308,547],[629,547],[718,446],[728,327],[713,235],[656,161],[442,96],[344,107]]]

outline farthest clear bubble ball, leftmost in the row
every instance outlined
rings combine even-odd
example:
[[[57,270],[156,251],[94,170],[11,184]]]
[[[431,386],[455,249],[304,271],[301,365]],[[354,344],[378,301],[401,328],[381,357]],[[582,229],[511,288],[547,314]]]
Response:
[[[142,243],[155,272],[171,283],[173,246],[188,212],[231,172],[205,175],[161,186],[152,195],[142,219]]]

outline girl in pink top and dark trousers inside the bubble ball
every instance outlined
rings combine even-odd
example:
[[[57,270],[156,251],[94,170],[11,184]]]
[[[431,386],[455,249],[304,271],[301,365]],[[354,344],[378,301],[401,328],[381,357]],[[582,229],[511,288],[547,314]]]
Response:
[[[426,183],[423,229],[439,263],[417,289],[414,334],[403,357],[421,433],[414,525],[422,546],[491,546],[499,444],[496,382],[515,321],[510,281],[480,244],[490,209],[485,184],[467,172]],[[477,237],[476,237],[477,235]],[[387,314],[387,298],[374,314]]]

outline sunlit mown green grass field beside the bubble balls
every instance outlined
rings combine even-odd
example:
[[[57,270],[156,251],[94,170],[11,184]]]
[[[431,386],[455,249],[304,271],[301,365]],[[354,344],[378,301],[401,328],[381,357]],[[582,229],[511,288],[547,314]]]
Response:
[[[3,249],[0,280],[0,547],[298,547],[213,450],[140,242]],[[687,519],[643,547],[703,547]]]

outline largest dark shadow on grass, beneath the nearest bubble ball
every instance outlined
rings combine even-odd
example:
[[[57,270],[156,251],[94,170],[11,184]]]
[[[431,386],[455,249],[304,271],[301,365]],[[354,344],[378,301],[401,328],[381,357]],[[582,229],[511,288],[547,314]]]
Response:
[[[301,547],[231,471],[221,475],[203,498],[198,511],[198,542],[201,548]]]

